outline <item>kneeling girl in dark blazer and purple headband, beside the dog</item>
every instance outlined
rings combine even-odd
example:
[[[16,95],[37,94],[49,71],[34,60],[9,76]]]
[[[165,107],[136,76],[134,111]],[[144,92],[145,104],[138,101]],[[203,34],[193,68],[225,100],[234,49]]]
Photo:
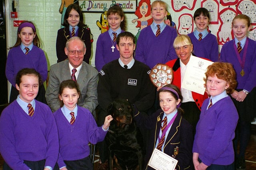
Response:
[[[145,169],[153,170],[148,161],[156,148],[178,160],[176,170],[192,170],[193,128],[182,117],[180,89],[168,84],[158,94],[161,109],[150,116],[134,111],[137,125],[150,131],[148,139],[144,139],[147,141]]]

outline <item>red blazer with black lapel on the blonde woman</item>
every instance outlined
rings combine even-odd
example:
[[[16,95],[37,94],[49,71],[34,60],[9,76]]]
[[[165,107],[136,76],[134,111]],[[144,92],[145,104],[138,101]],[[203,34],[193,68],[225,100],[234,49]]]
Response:
[[[173,70],[173,79],[172,84],[177,86],[178,88],[181,87],[181,80],[180,80],[180,59],[174,59],[171,61],[168,61],[166,63],[168,66],[172,67]],[[196,106],[201,110],[202,104],[205,99],[208,98],[208,95],[206,92],[204,92],[204,95],[198,94],[196,92],[192,92],[192,97],[194,101],[196,102]]]

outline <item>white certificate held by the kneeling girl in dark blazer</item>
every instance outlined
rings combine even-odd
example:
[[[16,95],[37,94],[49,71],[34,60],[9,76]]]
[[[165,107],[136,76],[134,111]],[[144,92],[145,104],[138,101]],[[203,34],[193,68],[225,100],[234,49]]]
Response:
[[[177,163],[178,160],[155,148],[148,162],[148,166],[156,170],[174,170]]]

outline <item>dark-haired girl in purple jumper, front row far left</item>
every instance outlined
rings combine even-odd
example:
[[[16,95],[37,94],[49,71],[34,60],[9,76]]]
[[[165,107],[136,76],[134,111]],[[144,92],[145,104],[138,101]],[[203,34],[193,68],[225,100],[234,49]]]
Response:
[[[35,100],[41,82],[32,68],[17,73],[19,95],[1,113],[3,170],[58,170],[58,130],[50,107]]]

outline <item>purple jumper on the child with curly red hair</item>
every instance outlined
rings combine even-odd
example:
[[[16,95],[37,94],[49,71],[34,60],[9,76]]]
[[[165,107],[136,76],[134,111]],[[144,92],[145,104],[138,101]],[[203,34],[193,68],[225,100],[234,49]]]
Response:
[[[200,119],[196,125],[193,152],[199,154],[204,164],[229,165],[234,162],[232,140],[238,113],[231,98],[225,97],[208,110],[210,98],[204,100]]]

